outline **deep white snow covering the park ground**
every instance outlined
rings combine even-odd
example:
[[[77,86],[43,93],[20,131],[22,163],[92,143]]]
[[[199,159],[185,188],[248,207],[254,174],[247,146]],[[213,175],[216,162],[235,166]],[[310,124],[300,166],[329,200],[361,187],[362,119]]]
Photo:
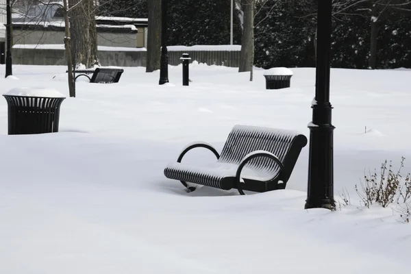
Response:
[[[0,75],[5,67],[0,66]],[[64,66],[14,66],[12,88],[68,97]],[[125,68],[119,84],[77,82],[63,101],[60,132],[7,135],[0,99],[0,273],[406,273],[411,225],[390,208],[359,207],[364,169],[393,160],[411,171],[411,71],[332,69],[334,189],[351,206],[304,210],[308,146],[286,190],[240,196],[192,193],[163,169],[188,142],[221,149],[235,124],[309,136],[314,69],[292,69],[291,88],[265,90],[264,71],[204,64]],[[84,77],[85,78],[85,77]],[[81,79],[81,78],[80,78]],[[79,79],[79,80],[80,80]],[[365,133],[367,131],[367,133]],[[190,152],[186,162],[214,160]]]

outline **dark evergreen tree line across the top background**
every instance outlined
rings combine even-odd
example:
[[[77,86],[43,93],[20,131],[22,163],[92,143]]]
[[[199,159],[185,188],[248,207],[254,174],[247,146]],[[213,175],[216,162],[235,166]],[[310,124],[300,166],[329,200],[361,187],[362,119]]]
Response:
[[[110,0],[100,2],[104,1]],[[315,66],[317,1],[255,1],[256,66]],[[411,67],[411,0],[332,1],[333,67]],[[230,0],[169,0],[168,3],[169,45],[229,44]],[[118,0],[102,6],[105,15],[147,18],[147,0]],[[241,44],[242,19],[242,12],[236,9],[236,45]]]

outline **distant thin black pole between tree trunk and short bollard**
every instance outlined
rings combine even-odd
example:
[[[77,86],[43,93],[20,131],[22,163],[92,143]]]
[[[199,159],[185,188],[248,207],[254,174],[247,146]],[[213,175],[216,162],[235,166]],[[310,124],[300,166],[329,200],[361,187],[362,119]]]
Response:
[[[169,82],[169,55],[167,54],[167,0],[161,1],[161,59],[159,84]]]

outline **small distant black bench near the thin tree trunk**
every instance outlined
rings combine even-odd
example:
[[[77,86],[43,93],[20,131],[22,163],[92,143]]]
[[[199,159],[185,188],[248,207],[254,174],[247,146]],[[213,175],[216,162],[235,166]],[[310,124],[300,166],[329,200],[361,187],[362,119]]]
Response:
[[[69,71],[66,71],[66,73],[68,72]],[[77,78],[80,76],[86,76],[90,80],[90,83],[118,83],[123,72],[123,69],[110,67],[97,67],[96,69],[78,69],[74,71],[75,74],[78,73],[75,76],[75,80],[77,80]],[[90,74],[92,74],[91,78],[88,76]]]

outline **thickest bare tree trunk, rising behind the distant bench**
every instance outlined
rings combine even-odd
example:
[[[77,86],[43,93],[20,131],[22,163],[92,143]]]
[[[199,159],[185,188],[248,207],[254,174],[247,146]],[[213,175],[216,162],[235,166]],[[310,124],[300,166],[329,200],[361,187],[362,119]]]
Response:
[[[76,66],[91,68],[98,63],[95,0],[69,0],[69,3],[71,7],[75,5],[70,11],[73,60]]]

